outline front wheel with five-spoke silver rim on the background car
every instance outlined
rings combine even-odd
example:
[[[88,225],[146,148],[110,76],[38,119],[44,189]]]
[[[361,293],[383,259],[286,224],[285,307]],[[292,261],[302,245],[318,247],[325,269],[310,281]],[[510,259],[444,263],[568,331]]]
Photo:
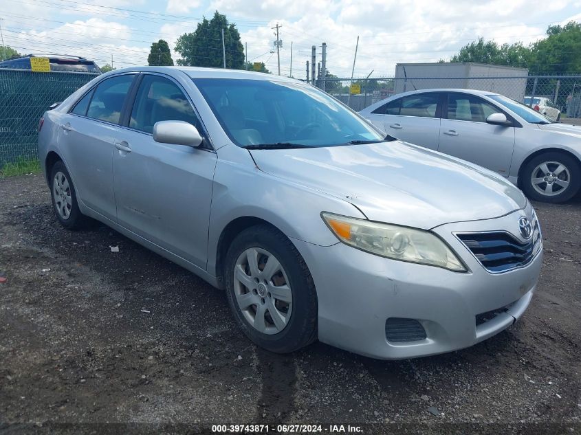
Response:
[[[581,186],[579,161],[564,153],[544,153],[523,168],[523,190],[527,197],[549,203],[568,201]]]

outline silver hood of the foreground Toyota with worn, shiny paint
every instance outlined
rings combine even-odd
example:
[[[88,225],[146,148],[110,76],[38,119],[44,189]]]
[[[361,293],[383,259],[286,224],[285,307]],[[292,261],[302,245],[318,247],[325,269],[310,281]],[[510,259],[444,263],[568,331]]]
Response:
[[[427,230],[503,216],[527,203],[494,172],[399,141],[251,153],[264,172],[349,201],[371,221]]]

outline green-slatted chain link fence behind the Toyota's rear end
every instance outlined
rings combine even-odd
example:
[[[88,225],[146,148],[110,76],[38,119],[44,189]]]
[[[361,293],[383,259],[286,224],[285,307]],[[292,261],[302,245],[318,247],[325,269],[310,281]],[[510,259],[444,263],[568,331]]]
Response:
[[[0,168],[9,161],[36,157],[37,129],[43,113],[95,77],[0,69]]]

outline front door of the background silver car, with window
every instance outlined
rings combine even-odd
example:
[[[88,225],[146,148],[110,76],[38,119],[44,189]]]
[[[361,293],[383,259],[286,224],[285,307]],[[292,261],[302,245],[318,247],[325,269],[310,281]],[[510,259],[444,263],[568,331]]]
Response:
[[[486,122],[489,115],[498,112],[505,113],[479,96],[448,93],[442,111],[438,150],[508,177],[514,127]]]

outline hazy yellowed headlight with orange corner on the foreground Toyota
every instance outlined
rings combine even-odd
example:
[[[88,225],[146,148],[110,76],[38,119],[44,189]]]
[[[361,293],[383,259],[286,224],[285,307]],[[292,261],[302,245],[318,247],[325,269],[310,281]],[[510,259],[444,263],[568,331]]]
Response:
[[[333,234],[346,245],[370,254],[464,272],[452,250],[431,232],[322,212]]]

